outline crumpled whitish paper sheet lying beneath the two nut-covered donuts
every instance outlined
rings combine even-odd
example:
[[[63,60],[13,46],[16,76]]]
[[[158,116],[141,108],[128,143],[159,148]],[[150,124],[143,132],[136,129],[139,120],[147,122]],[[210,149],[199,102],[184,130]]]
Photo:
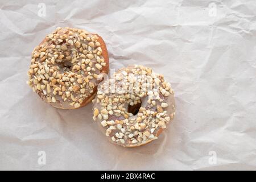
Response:
[[[0,169],[256,169],[255,1],[0,6]],[[92,104],[60,110],[32,92],[32,49],[56,27],[101,35],[112,69],[142,64],[171,82],[176,117],[158,140],[115,146],[93,121]]]

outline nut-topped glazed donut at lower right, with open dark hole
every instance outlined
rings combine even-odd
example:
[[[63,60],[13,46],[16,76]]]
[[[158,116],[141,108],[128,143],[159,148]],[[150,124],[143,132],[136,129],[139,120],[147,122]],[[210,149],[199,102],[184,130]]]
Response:
[[[174,92],[162,75],[130,65],[98,85],[93,114],[113,143],[142,146],[157,139],[174,118]]]

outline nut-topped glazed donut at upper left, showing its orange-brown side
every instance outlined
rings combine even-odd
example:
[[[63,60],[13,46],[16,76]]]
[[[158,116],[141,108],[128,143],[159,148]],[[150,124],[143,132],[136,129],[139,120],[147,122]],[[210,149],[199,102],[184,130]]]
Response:
[[[108,73],[104,40],[76,28],[57,28],[32,52],[28,85],[43,101],[77,109],[96,96],[101,73]]]

